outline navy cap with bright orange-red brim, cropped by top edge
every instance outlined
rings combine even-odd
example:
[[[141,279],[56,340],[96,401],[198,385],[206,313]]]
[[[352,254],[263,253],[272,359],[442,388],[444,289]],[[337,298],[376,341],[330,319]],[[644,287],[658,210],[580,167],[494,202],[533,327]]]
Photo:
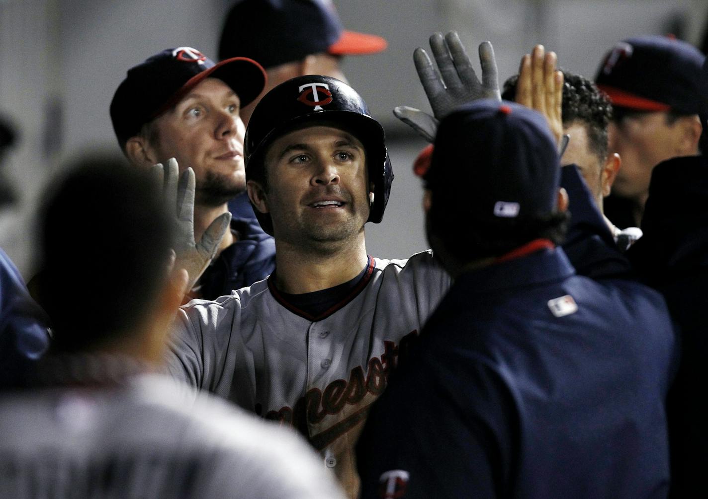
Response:
[[[331,0],[241,0],[224,23],[219,59],[250,57],[270,68],[309,54],[373,54],[387,45],[345,30]]]

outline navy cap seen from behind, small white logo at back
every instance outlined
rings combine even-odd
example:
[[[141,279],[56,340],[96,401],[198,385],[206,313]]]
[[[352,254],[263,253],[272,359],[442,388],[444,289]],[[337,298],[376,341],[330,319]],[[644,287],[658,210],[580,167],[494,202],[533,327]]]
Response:
[[[464,196],[469,224],[518,226],[556,211],[560,175],[546,119],[514,102],[486,99],[442,119],[423,179],[433,196]]]

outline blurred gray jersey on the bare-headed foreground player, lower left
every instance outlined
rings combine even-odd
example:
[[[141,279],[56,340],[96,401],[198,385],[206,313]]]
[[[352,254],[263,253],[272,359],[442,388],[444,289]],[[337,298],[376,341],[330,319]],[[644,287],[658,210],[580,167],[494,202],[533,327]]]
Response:
[[[297,433],[175,385],[2,394],[0,497],[343,498]]]

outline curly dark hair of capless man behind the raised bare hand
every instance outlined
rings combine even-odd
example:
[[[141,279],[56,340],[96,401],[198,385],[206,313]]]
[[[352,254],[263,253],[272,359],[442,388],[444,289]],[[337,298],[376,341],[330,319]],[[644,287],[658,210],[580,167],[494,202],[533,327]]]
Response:
[[[570,127],[575,122],[586,126],[591,151],[600,160],[607,158],[607,124],[612,118],[612,104],[595,86],[595,83],[579,74],[563,71],[563,126]],[[514,100],[518,75],[504,82],[501,97]]]

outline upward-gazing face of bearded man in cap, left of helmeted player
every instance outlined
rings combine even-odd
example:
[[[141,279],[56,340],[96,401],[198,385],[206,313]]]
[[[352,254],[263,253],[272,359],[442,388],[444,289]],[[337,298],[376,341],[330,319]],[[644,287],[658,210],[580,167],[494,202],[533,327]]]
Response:
[[[245,127],[239,110],[234,90],[206,78],[154,120],[152,155],[156,161],[175,157],[180,170],[193,168],[197,202],[223,204],[245,189]]]

